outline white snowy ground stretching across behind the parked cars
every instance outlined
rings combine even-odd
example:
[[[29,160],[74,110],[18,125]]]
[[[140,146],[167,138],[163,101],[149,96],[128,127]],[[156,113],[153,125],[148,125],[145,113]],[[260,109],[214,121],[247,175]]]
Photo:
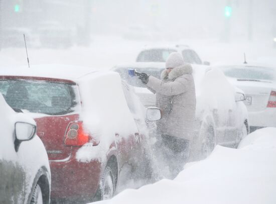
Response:
[[[129,41],[121,37],[95,36],[89,47],[71,47],[70,49],[34,49],[29,48],[30,64],[72,64],[93,68],[109,69],[116,64],[133,62],[137,54],[153,42]],[[270,41],[232,41],[223,43],[215,39],[182,39],[175,42],[159,44],[185,44],[199,54],[203,61],[211,64],[242,63],[243,53],[247,61],[262,58],[262,62],[275,61],[276,49]],[[267,58],[269,57],[269,58]],[[276,62],[275,62],[276,64]],[[27,65],[25,48],[7,48],[0,51],[0,68],[7,66]]]

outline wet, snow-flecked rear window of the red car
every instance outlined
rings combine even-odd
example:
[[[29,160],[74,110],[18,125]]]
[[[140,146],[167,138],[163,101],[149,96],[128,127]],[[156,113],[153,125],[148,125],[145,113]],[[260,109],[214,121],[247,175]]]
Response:
[[[74,112],[79,104],[77,86],[42,80],[0,80],[0,92],[13,109],[48,115]]]

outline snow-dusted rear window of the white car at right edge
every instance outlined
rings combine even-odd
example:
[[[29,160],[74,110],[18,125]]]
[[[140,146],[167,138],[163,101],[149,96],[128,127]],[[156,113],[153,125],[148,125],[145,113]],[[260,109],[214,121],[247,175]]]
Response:
[[[265,67],[220,67],[226,76],[245,80],[276,80],[276,71]]]

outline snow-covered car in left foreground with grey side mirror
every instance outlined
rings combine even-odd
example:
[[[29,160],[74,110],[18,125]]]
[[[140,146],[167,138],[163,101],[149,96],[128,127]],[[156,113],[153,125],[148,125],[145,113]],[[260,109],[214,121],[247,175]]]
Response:
[[[0,116],[0,203],[50,203],[50,166],[35,121],[1,93]]]

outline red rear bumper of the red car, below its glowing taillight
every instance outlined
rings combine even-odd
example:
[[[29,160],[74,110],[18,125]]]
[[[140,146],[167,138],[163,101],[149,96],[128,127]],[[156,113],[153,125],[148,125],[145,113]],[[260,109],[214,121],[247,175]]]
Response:
[[[52,173],[51,199],[91,200],[98,188],[101,163],[79,162],[72,157],[69,161],[50,161]]]

